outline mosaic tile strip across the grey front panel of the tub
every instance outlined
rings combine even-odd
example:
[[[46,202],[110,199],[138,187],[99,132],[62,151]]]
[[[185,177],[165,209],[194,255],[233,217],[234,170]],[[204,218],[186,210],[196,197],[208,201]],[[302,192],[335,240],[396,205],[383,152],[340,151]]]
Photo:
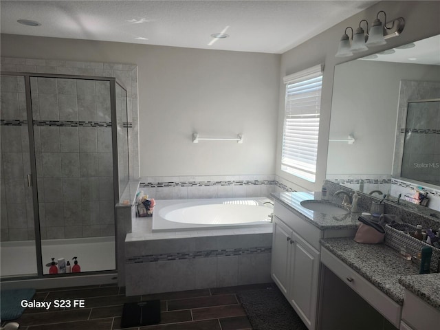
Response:
[[[272,247],[236,248],[223,250],[205,250],[195,252],[177,252],[174,254],[147,254],[127,258],[126,263],[157,263],[159,261],[175,261],[185,259],[216,258],[219,256],[241,256],[243,254],[271,253]]]

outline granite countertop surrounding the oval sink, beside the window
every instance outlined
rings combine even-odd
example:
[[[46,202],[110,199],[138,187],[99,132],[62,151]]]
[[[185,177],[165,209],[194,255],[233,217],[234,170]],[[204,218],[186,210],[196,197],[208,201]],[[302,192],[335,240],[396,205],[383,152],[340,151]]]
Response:
[[[297,214],[301,219],[318,227],[320,230],[340,230],[358,228],[358,217],[360,212],[347,213],[342,215],[324,214],[314,212],[301,206],[300,202],[314,199],[321,200],[320,192],[278,192],[271,195],[276,201],[280,202]],[[329,201],[325,201],[326,203]]]

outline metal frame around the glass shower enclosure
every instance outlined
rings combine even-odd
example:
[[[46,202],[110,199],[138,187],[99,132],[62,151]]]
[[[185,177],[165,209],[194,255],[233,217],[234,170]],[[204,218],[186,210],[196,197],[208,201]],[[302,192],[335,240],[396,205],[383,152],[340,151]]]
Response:
[[[32,278],[60,278],[58,274],[50,275],[43,274],[43,257],[41,249],[41,232],[40,232],[40,216],[39,216],[39,199],[38,199],[38,189],[37,189],[37,178],[36,178],[36,155],[35,155],[35,144],[34,144],[34,118],[32,116],[32,98],[31,98],[31,85],[30,78],[67,78],[67,79],[82,79],[82,80],[103,80],[109,81],[110,83],[110,113],[111,113],[111,143],[112,143],[112,153],[113,153],[113,203],[114,205],[119,202],[119,173],[118,173],[118,127],[117,127],[117,116],[116,116],[116,94],[115,94],[115,84],[117,83],[126,92],[127,89],[124,87],[119,80],[115,77],[100,77],[100,76],[78,76],[72,74],[43,74],[34,72],[0,72],[0,76],[23,76],[25,79],[25,98],[26,98],[26,115],[28,124],[28,135],[29,135],[29,148],[30,148],[30,168],[31,168],[31,182],[32,182],[32,201],[34,209],[34,231],[35,231],[35,252],[36,258],[39,262],[36,263],[37,274],[36,276],[10,276],[8,278],[2,278],[1,281],[17,281]],[[128,107],[126,109],[128,111]],[[128,137],[127,137],[128,141]],[[128,148],[128,146],[127,146]],[[129,150],[129,149],[128,149]],[[103,271],[91,271],[91,272],[80,272],[80,273],[66,273],[63,276],[87,276],[93,273],[99,274],[112,274],[118,272],[118,239],[116,235],[118,234],[117,221],[116,221],[116,210],[113,207],[113,214],[115,219],[114,225],[114,238],[115,238],[115,270],[103,270]]]

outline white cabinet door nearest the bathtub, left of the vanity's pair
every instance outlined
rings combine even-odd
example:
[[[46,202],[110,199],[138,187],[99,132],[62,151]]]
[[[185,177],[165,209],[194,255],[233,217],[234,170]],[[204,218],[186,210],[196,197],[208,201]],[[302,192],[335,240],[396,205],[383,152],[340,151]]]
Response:
[[[274,216],[271,275],[286,297],[289,287],[289,242],[291,239],[292,230],[283,221]]]

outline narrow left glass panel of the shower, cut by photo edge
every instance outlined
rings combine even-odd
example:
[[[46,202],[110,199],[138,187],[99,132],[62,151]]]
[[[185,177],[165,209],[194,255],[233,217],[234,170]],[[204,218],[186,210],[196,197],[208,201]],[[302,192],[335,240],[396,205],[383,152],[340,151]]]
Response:
[[[1,76],[1,276],[37,274],[25,78]]]

